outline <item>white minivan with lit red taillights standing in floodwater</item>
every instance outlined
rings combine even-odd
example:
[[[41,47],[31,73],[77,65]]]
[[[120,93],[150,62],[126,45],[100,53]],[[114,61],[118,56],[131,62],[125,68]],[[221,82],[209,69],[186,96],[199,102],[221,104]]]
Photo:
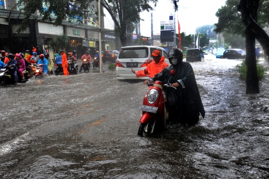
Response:
[[[140,71],[146,68],[146,66],[153,60],[150,56],[154,50],[159,50],[161,56],[164,56],[164,61],[170,65],[167,52],[164,48],[158,46],[125,46],[121,48],[120,54],[117,58],[116,76],[119,80],[124,79],[136,79],[134,71]],[[147,77],[140,77],[138,79],[148,79]]]

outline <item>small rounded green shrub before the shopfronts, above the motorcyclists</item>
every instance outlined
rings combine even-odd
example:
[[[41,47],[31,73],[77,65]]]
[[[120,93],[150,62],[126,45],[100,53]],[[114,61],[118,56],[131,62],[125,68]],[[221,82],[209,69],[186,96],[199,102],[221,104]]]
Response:
[[[62,35],[52,38],[48,44],[54,53],[58,53],[61,49],[64,49],[70,43],[69,37],[64,33]]]

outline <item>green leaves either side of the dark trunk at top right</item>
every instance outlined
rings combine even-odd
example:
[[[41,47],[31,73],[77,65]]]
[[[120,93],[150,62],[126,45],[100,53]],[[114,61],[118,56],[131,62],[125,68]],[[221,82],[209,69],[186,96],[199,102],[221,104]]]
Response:
[[[224,6],[218,9],[216,16],[219,18],[218,23],[215,23],[217,33],[226,31],[232,34],[245,36],[245,25],[242,22],[241,13],[237,10],[239,0],[226,0]],[[264,27],[269,23],[269,1],[260,0],[258,8],[258,21],[257,23]]]

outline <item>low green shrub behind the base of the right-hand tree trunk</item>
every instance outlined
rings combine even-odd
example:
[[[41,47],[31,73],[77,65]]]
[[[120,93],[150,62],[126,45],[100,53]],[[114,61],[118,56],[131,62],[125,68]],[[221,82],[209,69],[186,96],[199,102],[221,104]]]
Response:
[[[243,62],[241,64],[236,65],[236,67],[238,68],[238,72],[240,74],[240,76],[239,76],[240,79],[246,80],[246,78],[247,78],[247,66],[246,66],[245,60],[243,60]],[[265,78],[265,75],[267,74],[266,73],[267,70],[268,70],[268,68],[259,64],[258,60],[257,60],[257,73],[258,73],[259,80],[262,80]]]

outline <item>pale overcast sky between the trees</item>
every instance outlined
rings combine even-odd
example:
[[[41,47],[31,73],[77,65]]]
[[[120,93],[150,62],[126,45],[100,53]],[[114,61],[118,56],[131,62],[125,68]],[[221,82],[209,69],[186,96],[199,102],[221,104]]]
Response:
[[[140,16],[145,21],[140,21],[140,33],[143,36],[150,37],[150,13],[153,13],[153,34],[160,33],[160,21],[169,20],[169,15],[175,13],[176,33],[178,33],[177,16],[180,23],[180,32],[193,34],[196,27],[214,24],[218,22],[216,12],[225,4],[226,0],[179,0],[177,12],[173,10],[173,4],[170,0],[158,0],[155,10],[142,12]],[[196,32],[198,33],[198,32]]]

